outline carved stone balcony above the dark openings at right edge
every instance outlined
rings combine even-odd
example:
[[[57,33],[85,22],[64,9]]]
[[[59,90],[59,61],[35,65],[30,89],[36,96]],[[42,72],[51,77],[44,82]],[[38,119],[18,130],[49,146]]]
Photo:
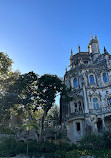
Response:
[[[106,113],[111,113],[111,106],[101,107],[99,109],[90,109],[89,113],[90,114],[106,114]]]

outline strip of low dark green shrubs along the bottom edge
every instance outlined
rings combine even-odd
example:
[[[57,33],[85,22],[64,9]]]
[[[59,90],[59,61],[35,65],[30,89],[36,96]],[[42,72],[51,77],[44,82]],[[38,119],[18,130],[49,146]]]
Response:
[[[80,158],[81,156],[95,156],[98,158],[111,158],[110,149],[89,150],[77,148],[75,144],[69,144],[65,140],[47,141],[37,143],[28,141],[29,156],[39,157],[42,154],[46,158]],[[14,138],[6,138],[0,143],[0,157],[13,157],[17,154],[26,155],[27,142],[17,142]]]

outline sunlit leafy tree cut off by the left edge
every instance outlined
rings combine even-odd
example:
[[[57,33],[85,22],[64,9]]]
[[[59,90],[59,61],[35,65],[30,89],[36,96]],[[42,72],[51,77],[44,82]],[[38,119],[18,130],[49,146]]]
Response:
[[[19,76],[19,71],[12,72],[12,59],[7,54],[0,52],[0,122],[9,119],[7,102],[4,102],[8,87]],[[5,105],[4,105],[5,103]]]

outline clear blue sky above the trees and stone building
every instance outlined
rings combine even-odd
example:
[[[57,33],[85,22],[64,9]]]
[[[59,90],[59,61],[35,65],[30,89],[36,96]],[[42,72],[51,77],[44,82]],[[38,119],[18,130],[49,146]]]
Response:
[[[0,51],[22,73],[62,77],[70,49],[87,51],[91,33],[111,53],[111,0],[0,0]]]

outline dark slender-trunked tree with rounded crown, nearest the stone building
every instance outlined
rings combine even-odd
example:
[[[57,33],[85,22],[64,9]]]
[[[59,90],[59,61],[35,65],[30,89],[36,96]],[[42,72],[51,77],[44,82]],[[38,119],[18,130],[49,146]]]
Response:
[[[36,97],[38,97],[37,104],[43,109],[43,116],[41,120],[40,140],[43,140],[44,120],[48,111],[55,103],[56,94],[61,94],[65,91],[65,85],[56,75],[45,74],[38,79],[38,89]]]

